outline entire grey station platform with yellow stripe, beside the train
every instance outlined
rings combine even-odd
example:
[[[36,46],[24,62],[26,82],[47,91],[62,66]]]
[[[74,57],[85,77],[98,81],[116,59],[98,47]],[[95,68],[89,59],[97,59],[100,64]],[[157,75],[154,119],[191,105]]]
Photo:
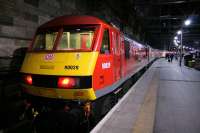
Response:
[[[155,61],[91,133],[199,133],[200,71]]]

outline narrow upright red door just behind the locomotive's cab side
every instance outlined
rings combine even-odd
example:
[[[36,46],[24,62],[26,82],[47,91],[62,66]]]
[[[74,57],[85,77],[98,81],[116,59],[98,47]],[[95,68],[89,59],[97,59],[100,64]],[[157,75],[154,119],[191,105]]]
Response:
[[[114,64],[114,75],[115,80],[119,80],[122,76],[121,72],[121,50],[120,50],[120,34],[116,31],[111,32],[112,46],[113,46],[113,64]]]

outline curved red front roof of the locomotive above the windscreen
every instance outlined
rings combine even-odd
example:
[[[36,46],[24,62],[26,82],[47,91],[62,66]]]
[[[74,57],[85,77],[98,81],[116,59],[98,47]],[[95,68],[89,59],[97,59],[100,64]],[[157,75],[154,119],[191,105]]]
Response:
[[[48,28],[56,26],[67,26],[67,25],[97,25],[106,24],[101,19],[93,16],[61,16],[48,21],[41,25],[39,28]],[[108,25],[108,24],[106,24]]]

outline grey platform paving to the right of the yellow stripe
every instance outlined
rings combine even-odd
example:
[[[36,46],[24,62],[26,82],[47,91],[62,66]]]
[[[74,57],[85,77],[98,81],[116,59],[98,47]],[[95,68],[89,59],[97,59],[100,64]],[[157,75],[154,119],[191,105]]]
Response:
[[[160,79],[154,133],[199,133],[200,71],[177,62],[156,64]]]

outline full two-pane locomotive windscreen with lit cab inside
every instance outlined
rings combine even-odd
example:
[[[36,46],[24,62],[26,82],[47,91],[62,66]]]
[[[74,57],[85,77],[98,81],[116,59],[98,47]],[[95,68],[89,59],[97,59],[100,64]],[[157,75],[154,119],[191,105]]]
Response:
[[[55,29],[38,31],[31,49],[33,51],[91,50],[94,32],[95,27],[69,27],[57,31]]]

